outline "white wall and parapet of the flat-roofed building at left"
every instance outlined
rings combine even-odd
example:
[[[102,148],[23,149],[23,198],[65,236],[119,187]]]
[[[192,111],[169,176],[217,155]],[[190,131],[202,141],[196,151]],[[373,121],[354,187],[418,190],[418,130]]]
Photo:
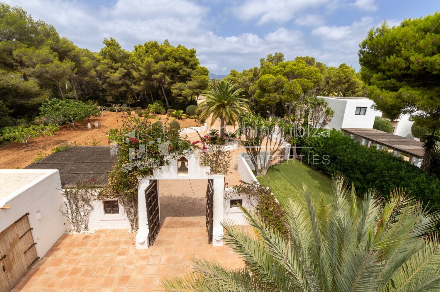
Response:
[[[0,200],[0,206],[11,206],[9,210],[0,210],[0,232],[29,212],[37,256],[43,257],[68,229],[66,218],[60,212],[65,205],[59,172],[57,169],[1,169],[0,175],[2,173],[45,173]],[[38,211],[42,215],[40,220],[35,215]]]

